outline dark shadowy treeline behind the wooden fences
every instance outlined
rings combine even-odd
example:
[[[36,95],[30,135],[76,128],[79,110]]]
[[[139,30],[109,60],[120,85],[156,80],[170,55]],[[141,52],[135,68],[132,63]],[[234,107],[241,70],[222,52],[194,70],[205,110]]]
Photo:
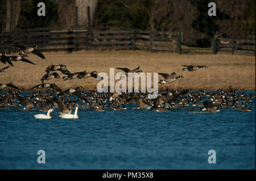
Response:
[[[36,15],[38,2],[46,3],[46,16]],[[136,28],[152,31],[180,31],[185,44],[209,46],[214,35],[245,38],[255,35],[255,0],[216,0],[217,16],[208,16],[210,0],[96,0],[91,7],[91,27],[97,30]],[[89,1],[0,0],[0,30],[76,27],[87,28]],[[85,20],[84,20],[85,19]]]

